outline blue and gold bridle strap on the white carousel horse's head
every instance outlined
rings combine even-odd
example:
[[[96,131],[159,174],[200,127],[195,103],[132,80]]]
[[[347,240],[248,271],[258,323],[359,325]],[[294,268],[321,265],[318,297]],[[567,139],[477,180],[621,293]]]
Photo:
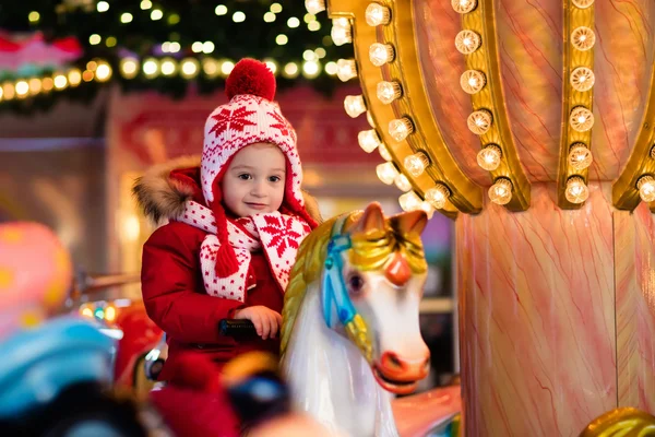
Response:
[[[348,234],[343,234],[343,227],[347,214],[340,216],[332,226],[330,241],[327,243],[327,255],[324,261],[322,280],[322,305],[323,319],[329,328],[333,328],[333,307],[336,316],[344,326],[348,338],[359,347],[366,359],[372,361],[372,344],[368,335],[368,328],[364,318],[357,312],[344,280],[344,262],[342,253],[353,247]]]

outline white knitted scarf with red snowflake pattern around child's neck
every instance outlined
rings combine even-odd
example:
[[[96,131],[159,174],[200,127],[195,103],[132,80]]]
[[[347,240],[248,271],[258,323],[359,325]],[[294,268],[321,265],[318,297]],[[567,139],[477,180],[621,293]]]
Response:
[[[200,247],[202,279],[207,294],[239,302],[245,302],[247,288],[254,286],[254,283],[248,281],[250,252],[263,248],[271,271],[284,292],[289,281],[289,272],[296,261],[298,247],[311,232],[305,221],[281,214],[278,211],[240,217],[236,223],[228,221],[228,241],[235,250],[239,268],[228,277],[217,277],[216,253],[221,243],[216,237],[216,221],[212,210],[188,200],[184,211],[177,220],[207,232]]]

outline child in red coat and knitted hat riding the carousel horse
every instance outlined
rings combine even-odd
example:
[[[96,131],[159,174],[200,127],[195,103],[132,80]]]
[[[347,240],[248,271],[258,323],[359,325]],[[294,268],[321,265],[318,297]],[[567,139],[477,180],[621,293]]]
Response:
[[[134,186],[146,215],[169,220],[145,243],[141,272],[147,314],[168,340],[160,380],[189,350],[219,364],[251,350],[278,353],[289,271],[320,220],[305,206],[296,133],[272,102],[273,74],[243,59],[226,93],[229,103],[205,122],[200,166],[178,161]],[[260,338],[219,335],[226,318],[251,320]]]

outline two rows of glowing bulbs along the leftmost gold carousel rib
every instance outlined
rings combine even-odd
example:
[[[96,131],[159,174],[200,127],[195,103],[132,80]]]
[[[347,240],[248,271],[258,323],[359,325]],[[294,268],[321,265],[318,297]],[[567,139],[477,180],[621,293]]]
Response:
[[[325,10],[323,0],[308,0],[305,2],[305,5],[309,13],[312,14]],[[391,10],[385,5],[372,2],[367,7],[365,16],[367,24],[370,26],[386,25],[391,21]],[[331,36],[335,45],[341,46],[353,42],[353,31],[348,19],[335,19],[332,23]],[[394,59],[395,49],[391,44],[371,44],[369,48],[369,60],[373,66],[382,67],[385,63],[393,62]],[[355,60],[340,59],[336,63],[336,74],[343,82],[356,78],[357,64]],[[389,105],[393,101],[402,97],[403,90],[397,81],[382,81],[378,83],[376,95],[380,102]],[[386,185],[395,184],[395,186],[404,192],[404,194],[398,198],[398,203],[403,210],[414,211],[420,209],[431,217],[434,210],[440,210],[445,206],[445,203],[451,196],[450,189],[446,186],[436,184],[434,187],[426,190],[425,200],[412,189],[412,182],[393,163],[389,149],[380,140],[374,129],[374,123],[370,118],[370,113],[367,111],[366,102],[362,95],[346,96],[344,99],[344,108],[348,116],[353,118],[359,117],[365,113],[367,114],[367,119],[372,129],[359,132],[357,138],[359,145],[367,153],[371,153],[378,149],[380,156],[385,161],[376,168],[378,178]],[[415,131],[414,122],[406,116],[391,120],[388,129],[389,134],[398,142],[405,140]],[[406,156],[403,161],[405,172],[413,177],[422,175],[429,165],[430,158],[422,151]]]

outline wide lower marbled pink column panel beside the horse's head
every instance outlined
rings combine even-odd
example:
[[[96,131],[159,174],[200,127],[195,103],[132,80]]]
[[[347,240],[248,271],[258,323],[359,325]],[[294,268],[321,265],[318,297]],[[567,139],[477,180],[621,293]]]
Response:
[[[456,221],[466,436],[576,436],[617,404],[611,187]]]

